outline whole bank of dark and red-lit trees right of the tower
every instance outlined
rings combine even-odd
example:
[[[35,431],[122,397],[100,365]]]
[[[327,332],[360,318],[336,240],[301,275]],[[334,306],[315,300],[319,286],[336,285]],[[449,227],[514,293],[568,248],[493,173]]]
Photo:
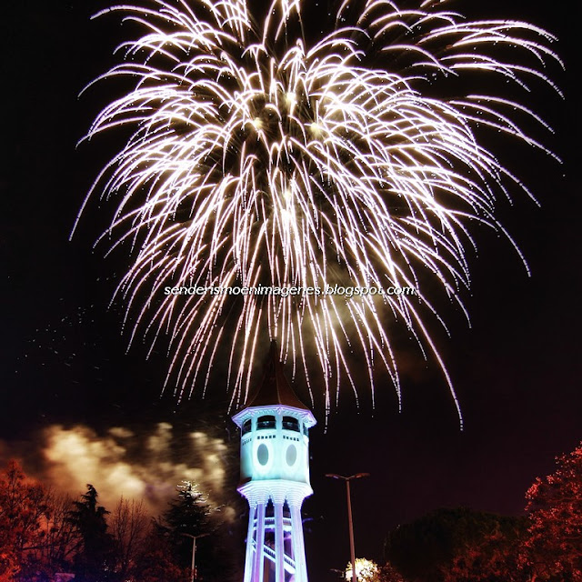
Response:
[[[536,479],[526,511],[440,509],[392,531],[386,555],[410,582],[582,582],[582,443]]]

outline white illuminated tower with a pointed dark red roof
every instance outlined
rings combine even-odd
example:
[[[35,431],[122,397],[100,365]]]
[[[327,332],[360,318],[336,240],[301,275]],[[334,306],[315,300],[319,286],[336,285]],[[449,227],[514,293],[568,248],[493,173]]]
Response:
[[[244,582],[307,582],[301,505],[313,493],[308,429],[316,419],[287,383],[275,342],[261,385],[233,420],[238,491],[249,507]]]

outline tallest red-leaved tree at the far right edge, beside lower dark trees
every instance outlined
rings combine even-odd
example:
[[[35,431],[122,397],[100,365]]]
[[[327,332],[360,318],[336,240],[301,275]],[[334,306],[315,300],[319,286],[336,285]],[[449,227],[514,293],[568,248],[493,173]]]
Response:
[[[529,487],[529,536],[521,555],[531,580],[582,582],[582,443]]]

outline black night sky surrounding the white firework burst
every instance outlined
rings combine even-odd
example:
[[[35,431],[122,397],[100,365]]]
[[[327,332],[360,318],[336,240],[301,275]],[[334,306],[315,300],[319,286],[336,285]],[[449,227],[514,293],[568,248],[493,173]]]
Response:
[[[345,491],[326,473],[371,474],[354,486],[356,554],[377,559],[388,529],[437,507],[521,511],[534,478],[551,472],[554,457],[582,438],[575,140],[581,125],[579,98],[572,95],[579,71],[577,15],[526,0],[484,2],[482,9],[470,4],[475,15],[527,19],[559,37],[556,50],[567,72],[550,74],[566,100],[540,90],[531,103],[555,127],[556,134],[544,139],[564,163],[527,147],[500,152],[502,159],[513,158],[541,203],[538,208],[516,196],[513,206],[499,208],[532,276],[507,241],[477,229],[479,254],[469,256],[473,288],[465,296],[472,328],[451,309],[452,337],[437,336],[463,409],[463,432],[437,367],[413,346],[401,355],[401,414],[392,387],[383,382],[374,411],[366,390],[359,410],[346,396],[326,432],[323,411],[316,410],[315,495],[305,508],[313,517],[308,561],[320,574],[343,567],[348,558]],[[123,266],[105,259],[104,248],[92,248],[107,211],[90,206],[68,241],[86,191],[119,144],[118,136],[108,135],[75,148],[109,89],[77,95],[115,63],[112,49],[124,38],[115,18],[90,20],[105,5],[29,0],[9,3],[3,16],[0,438],[8,454],[12,443],[34,439],[36,430],[55,423],[101,430],[170,419],[228,435],[222,386],[206,402],[176,406],[171,397],[159,398],[165,357],[146,361],[141,346],[125,355],[120,308],[107,310]],[[462,10],[463,3],[457,7]]]

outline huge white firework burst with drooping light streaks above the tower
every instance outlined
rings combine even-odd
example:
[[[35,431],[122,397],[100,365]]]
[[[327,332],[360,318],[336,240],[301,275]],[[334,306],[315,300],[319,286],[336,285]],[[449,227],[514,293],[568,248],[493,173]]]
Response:
[[[154,0],[104,11],[122,11],[145,33],[121,45],[124,62],[100,77],[124,77],[133,88],[105,107],[86,138],[117,126],[134,133],[88,197],[98,190],[119,199],[104,237],[115,235],[114,248],[131,246],[135,262],[116,295],[127,305],[125,323],[132,319],[131,342],[138,333],[151,346],[170,337],[168,376],[181,396],[199,380],[206,389],[228,315],[236,321],[227,339],[235,404],[247,396],[266,332],[282,356],[303,362],[307,382],[306,362],[316,355],[327,410],[342,377],[356,394],[352,352],[366,362],[371,386],[379,364],[400,397],[386,331],[397,320],[437,359],[459,410],[424,319],[432,312],[445,324],[419,276],[436,277],[462,307],[468,225],[507,236],[496,197],[509,196],[508,186],[526,190],[479,144],[477,125],[541,149],[513,118],[547,125],[510,99],[430,96],[430,81],[477,72],[486,83],[497,76],[519,90],[540,81],[554,86],[543,72],[557,61],[554,38],[515,21],[466,22],[436,0],[403,9],[387,0],[356,4],[339,5],[330,32],[316,42],[307,40],[298,0],[275,0],[257,20],[245,0]],[[418,293],[163,291],[334,284]]]

